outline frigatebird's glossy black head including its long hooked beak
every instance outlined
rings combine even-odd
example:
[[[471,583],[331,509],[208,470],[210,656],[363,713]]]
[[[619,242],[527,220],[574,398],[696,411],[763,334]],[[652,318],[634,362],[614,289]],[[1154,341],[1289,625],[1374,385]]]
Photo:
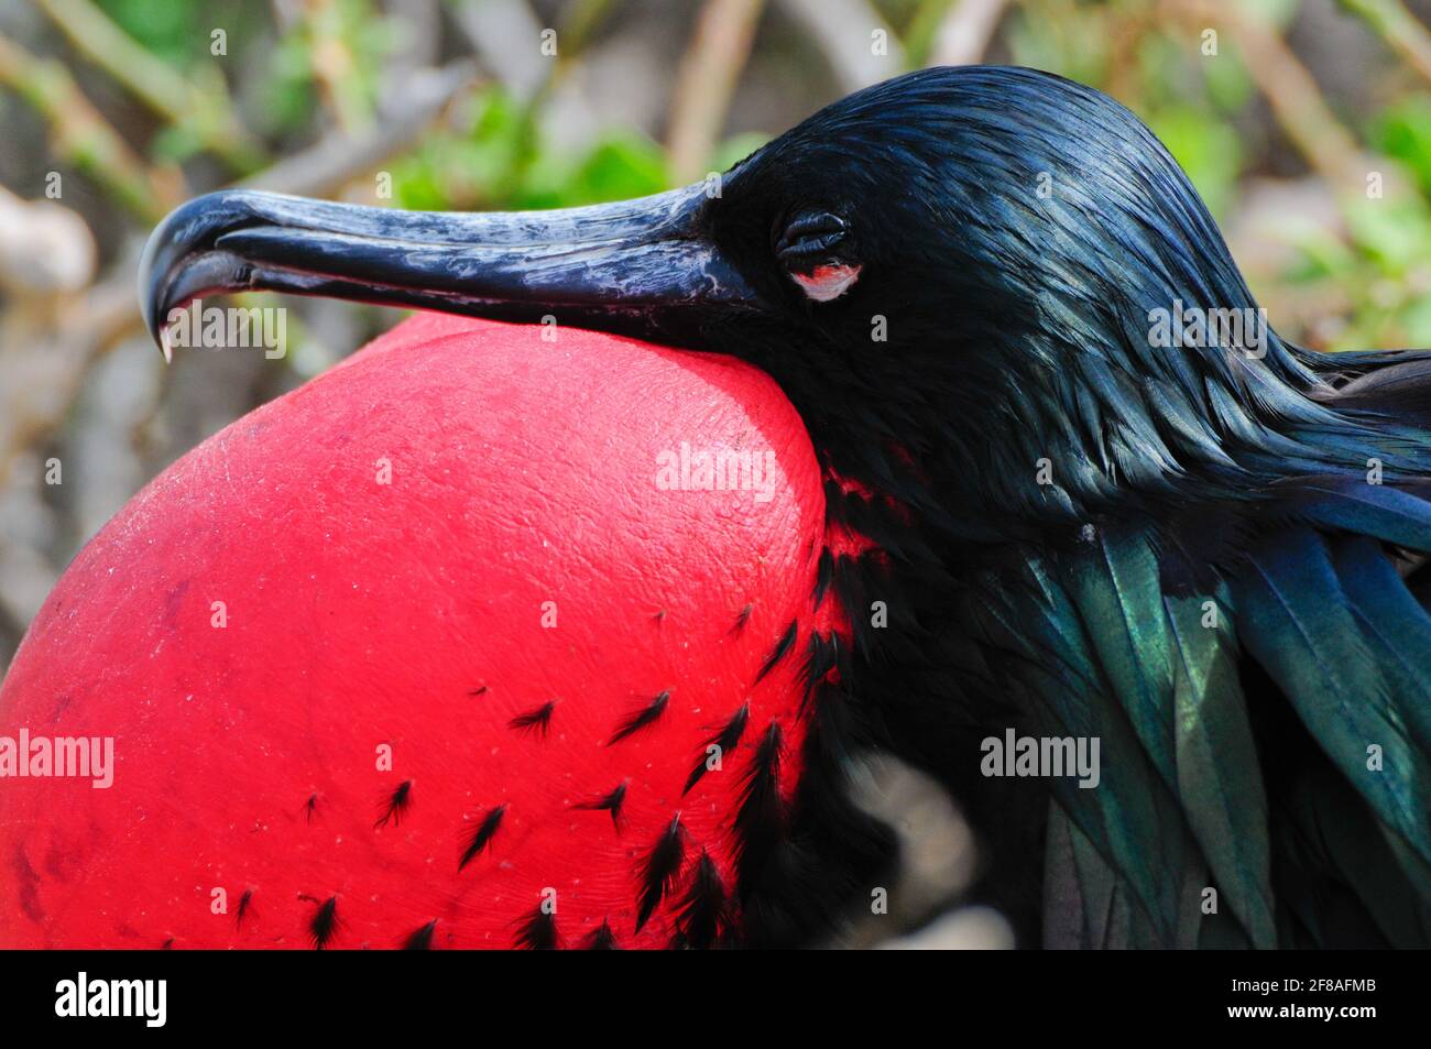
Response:
[[[272,289],[731,353],[781,384],[839,472],[894,494],[937,475],[986,519],[1078,519],[1119,487],[1229,469],[1229,442],[1317,411],[1265,325],[1261,343],[1158,343],[1156,311],[1251,325],[1255,302],[1156,137],[1023,69],[912,73],[724,176],[612,205],[213,193],[155,232],[140,286],[156,338],[196,296]]]

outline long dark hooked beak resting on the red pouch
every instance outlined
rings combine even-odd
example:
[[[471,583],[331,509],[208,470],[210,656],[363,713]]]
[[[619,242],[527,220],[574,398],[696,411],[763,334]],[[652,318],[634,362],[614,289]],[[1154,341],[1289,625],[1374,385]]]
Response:
[[[756,296],[701,229],[704,183],[550,212],[401,212],[225,190],[175,210],[139,269],[169,355],[176,312],[207,293],[275,291],[701,345]],[[547,321],[551,323],[552,321]]]

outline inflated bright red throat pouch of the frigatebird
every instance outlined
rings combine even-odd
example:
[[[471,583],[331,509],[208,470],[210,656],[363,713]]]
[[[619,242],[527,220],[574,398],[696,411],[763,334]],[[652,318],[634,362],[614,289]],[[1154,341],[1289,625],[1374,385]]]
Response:
[[[774,498],[663,491],[657,455],[683,441],[774,451]],[[809,436],[754,368],[414,318],[165,471],[46,601],[0,736],[112,736],[114,783],[0,779],[0,946],[309,947],[336,897],[332,947],[432,920],[435,947],[507,947],[544,889],[567,946],[602,920],[665,946],[680,889],[635,930],[661,831],[680,813],[683,880],[704,849],[730,886],[770,724],[787,797],[798,774],[800,664],[836,625],[810,600],[823,521]],[[608,746],[663,690],[664,716]],[[508,726],[550,700],[545,737]],[[747,700],[741,744],[683,797]],[[411,806],[375,826],[404,781]],[[571,807],[622,781],[620,829]]]

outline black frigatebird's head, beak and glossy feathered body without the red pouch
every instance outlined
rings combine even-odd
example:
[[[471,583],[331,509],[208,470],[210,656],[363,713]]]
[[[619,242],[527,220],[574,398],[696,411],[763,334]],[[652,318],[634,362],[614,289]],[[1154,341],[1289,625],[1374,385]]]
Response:
[[[923,70],[720,180],[570,210],[220,192],[159,228],[140,288],[160,339],[195,296],[270,289],[554,315],[780,385],[851,643],[804,653],[821,731],[784,852],[740,859],[748,942],[809,939],[889,859],[823,790],[870,746],[957,799],[975,896],[1023,943],[1431,940],[1431,355],[1261,325],[1108,96]],[[1196,311],[1249,321],[1208,338]],[[1098,784],[997,774],[1006,737],[1096,740]]]

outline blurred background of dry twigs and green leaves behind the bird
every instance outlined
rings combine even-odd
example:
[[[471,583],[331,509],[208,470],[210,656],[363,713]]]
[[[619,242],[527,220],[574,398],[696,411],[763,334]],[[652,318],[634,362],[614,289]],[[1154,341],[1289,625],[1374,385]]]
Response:
[[[1431,0],[6,0],[0,674],[69,560],[155,474],[401,318],[289,301],[285,358],[185,351],[166,368],[135,270],[193,195],[640,196],[900,72],[1015,63],[1153,127],[1284,336],[1431,346],[1428,27]],[[904,833],[892,899],[914,926],[967,882],[967,830],[897,764],[863,786]],[[1007,929],[962,910],[904,943],[1000,946]]]

